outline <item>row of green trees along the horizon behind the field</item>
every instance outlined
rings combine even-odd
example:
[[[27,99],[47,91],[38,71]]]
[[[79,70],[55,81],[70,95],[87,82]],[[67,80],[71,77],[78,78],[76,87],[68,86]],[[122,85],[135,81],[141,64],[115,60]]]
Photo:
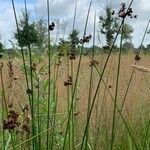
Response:
[[[99,33],[101,35],[104,35],[106,39],[106,45],[101,48],[97,47],[97,49],[103,50],[104,52],[107,52],[109,50],[114,40],[114,36],[118,32],[119,24],[120,24],[120,20],[115,15],[114,10],[112,10],[111,7],[107,6],[105,8],[105,14],[99,16]],[[16,45],[17,47],[21,46],[26,48],[30,43],[32,47],[38,48],[44,52],[44,50],[47,48],[47,43],[48,43],[47,30],[48,30],[48,26],[44,19],[40,18],[38,19],[38,21],[34,22],[31,21],[30,14],[26,14],[22,12],[22,17],[19,20],[19,31],[16,30],[14,33],[14,37],[17,41],[17,43],[14,45]],[[133,27],[125,23],[123,25],[122,32],[119,33],[120,35],[122,34],[122,39],[123,39],[122,47],[124,51],[135,49],[134,45],[132,44],[133,31],[134,31]],[[56,36],[57,34],[58,32],[56,32]],[[65,34],[65,26],[64,26],[64,34]],[[57,40],[58,39],[56,39],[56,41]],[[80,43],[81,43],[78,30],[74,30],[72,33],[70,33],[68,39],[60,38],[58,43],[56,41],[51,46],[53,48],[57,47],[59,50],[63,49],[64,51],[66,47],[69,47],[72,44],[77,49],[77,47],[80,47]],[[146,47],[142,45],[142,47],[140,48],[142,48],[144,52],[147,52],[150,50],[150,44],[148,44]],[[86,51],[90,51],[90,49],[91,48],[85,48]],[[117,50],[117,46],[115,49]],[[0,53],[3,52],[4,52],[4,46],[2,42],[0,42]]]

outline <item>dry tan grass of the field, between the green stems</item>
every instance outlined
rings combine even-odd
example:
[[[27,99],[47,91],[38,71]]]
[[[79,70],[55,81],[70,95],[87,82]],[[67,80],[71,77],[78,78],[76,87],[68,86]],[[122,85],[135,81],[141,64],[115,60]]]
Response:
[[[138,66],[147,66],[149,67],[150,59],[149,56],[143,55],[141,56],[141,61],[138,63]],[[97,65],[98,70],[101,70],[103,66],[103,62],[105,62],[106,54],[104,55],[97,55],[95,60],[99,62]],[[117,70],[117,54],[113,54],[109,61],[108,67],[106,69],[104,75],[104,81],[107,85],[102,84],[99,89],[99,94],[96,99],[96,105],[92,114],[91,119],[91,130],[93,134],[95,134],[95,128],[97,127],[97,117],[101,115],[101,123],[100,126],[106,126],[108,134],[111,134],[111,122],[112,122],[112,114],[113,114],[113,102],[110,96],[110,93],[115,95],[115,84],[116,84],[116,70]],[[27,94],[25,88],[25,79],[23,71],[20,69],[19,64],[16,60],[13,61],[15,67],[14,69],[14,76],[17,76],[17,80],[13,80],[13,84],[11,88],[9,88],[9,76],[8,76],[8,67],[7,67],[7,60],[2,60],[4,62],[4,85],[7,95],[8,103],[11,102],[14,104],[15,108],[19,108],[19,103],[25,105],[27,103]],[[40,66],[45,65],[45,62],[42,62],[38,65]],[[79,75],[79,84],[77,87],[77,94],[76,94],[76,134],[81,133],[84,129],[84,123],[86,119],[86,112],[88,106],[88,86],[89,86],[89,76],[90,76],[90,59],[88,56],[84,56],[82,59],[81,64],[81,71]],[[131,65],[134,64],[134,55],[133,54],[125,54],[122,56],[121,62],[121,71],[120,71],[120,81],[119,81],[119,91],[118,91],[118,102],[117,105],[120,107],[123,101],[123,97],[126,92],[126,88],[129,82],[129,78],[131,76],[132,68]],[[74,62],[74,74],[76,72],[78,65],[78,59]],[[135,68],[135,67],[134,67]],[[53,74],[53,72],[52,72]],[[64,113],[67,114],[67,87],[64,86],[64,81],[67,79],[67,70],[66,70],[66,62],[65,58],[62,62],[62,65],[59,69],[59,78],[57,81],[58,85],[58,108],[57,113]],[[92,87],[92,94],[94,94],[97,82],[99,80],[99,74],[94,69],[94,80],[93,80],[93,87]],[[47,78],[47,75],[43,75],[43,79]],[[126,120],[131,123],[131,126],[136,125],[136,123],[148,117],[148,104],[149,104],[149,97],[150,97],[150,75],[144,72],[135,71],[134,77],[131,82],[130,90],[128,92],[125,105],[123,108],[123,115],[125,116]],[[1,83],[0,83],[1,84]],[[106,89],[107,86],[107,89]],[[103,107],[102,107],[103,105]],[[44,106],[43,106],[44,107]],[[19,110],[18,109],[18,110]],[[118,120],[118,124],[122,125],[120,120]],[[140,123],[139,123],[140,125]],[[137,130],[134,128],[133,130]],[[118,129],[117,133],[124,132],[122,128]],[[122,138],[123,135],[117,134],[116,140]],[[105,148],[104,148],[105,149]]]

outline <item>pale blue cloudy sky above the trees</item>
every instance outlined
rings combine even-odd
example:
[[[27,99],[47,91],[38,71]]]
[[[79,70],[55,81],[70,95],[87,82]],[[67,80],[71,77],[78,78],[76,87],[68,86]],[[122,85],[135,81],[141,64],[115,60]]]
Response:
[[[24,9],[24,0],[14,0],[18,18],[21,11]],[[111,5],[113,9],[118,10],[121,2],[129,4],[129,0],[93,0],[87,34],[93,31],[94,13],[98,16],[104,14],[106,5]],[[67,23],[66,33],[72,30],[72,22],[74,16],[74,7],[76,0],[50,0],[50,16],[51,19],[60,19]],[[83,34],[85,20],[89,0],[78,0],[76,28]],[[32,19],[38,17],[45,18],[47,16],[46,0],[27,0],[28,11],[32,14]],[[140,45],[144,30],[150,18],[150,1],[149,0],[134,0],[133,11],[138,15],[138,19],[130,19],[128,23],[134,27],[133,43],[137,47]],[[10,46],[9,40],[13,40],[13,32],[15,31],[15,21],[12,10],[11,0],[0,0],[0,36],[5,46]],[[61,35],[60,35],[61,36]],[[55,36],[53,37],[55,39]],[[104,39],[102,38],[102,43]],[[150,43],[150,34],[146,36],[144,44]]]

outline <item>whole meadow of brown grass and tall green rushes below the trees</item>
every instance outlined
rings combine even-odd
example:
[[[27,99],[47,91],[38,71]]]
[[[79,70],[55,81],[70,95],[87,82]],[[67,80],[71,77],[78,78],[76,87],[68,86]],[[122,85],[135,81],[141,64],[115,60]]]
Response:
[[[96,51],[96,16],[93,33],[87,35],[91,1],[79,47],[75,41],[51,45],[54,25],[48,8],[44,53],[33,51],[27,39],[27,53],[20,46],[17,53],[0,58],[0,149],[150,149],[149,54],[142,48],[124,53],[122,48],[123,25],[132,13],[132,2],[128,9],[122,7],[120,26],[107,51]],[[12,5],[15,16],[13,0]],[[19,36],[16,16],[15,20]],[[120,46],[115,50],[117,38]],[[89,40],[93,45],[85,54]]]

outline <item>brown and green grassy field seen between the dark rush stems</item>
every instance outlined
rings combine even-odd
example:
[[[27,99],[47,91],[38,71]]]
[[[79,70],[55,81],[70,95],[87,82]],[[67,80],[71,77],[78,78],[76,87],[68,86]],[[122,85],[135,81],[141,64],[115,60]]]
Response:
[[[22,69],[20,58],[8,60],[2,59],[4,93],[3,87],[0,87],[1,98],[3,102],[6,100],[8,110],[14,110],[19,116],[17,122],[20,124],[13,130],[9,130],[13,135],[13,142],[16,148],[14,149],[30,149],[32,120],[34,120],[35,138],[37,149],[46,149],[46,134],[47,134],[47,62],[46,56],[34,59],[36,69],[34,71],[34,116],[31,116],[29,109],[28,94],[26,93],[25,75]],[[134,54],[123,54],[120,66],[120,77],[117,95],[117,109],[115,117],[114,141],[113,149],[149,149],[150,147],[150,132],[149,129],[149,72],[139,71],[134,69],[132,81],[125,97],[129,80],[133,71],[131,65],[134,64]],[[89,56],[83,56],[77,90],[73,100],[73,110],[71,119],[69,120],[69,129],[65,143],[65,149],[80,149],[83,133],[85,130],[89,108],[100,79],[100,73],[106,61],[107,54],[99,54],[95,56],[97,61],[94,67],[90,66],[91,59]],[[49,143],[53,145],[53,149],[62,149],[64,145],[64,137],[66,134],[67,120],[71,107],[72,84],[76,77],[78,58],[73,62],[73,71],[69,69],[67,57],[63,57],[61,65],[57,64],[54,58],[54,63],[51,65],[51,99],[50,99],[50,131]],[[87,149],[109,149],[112,135],[112,122],[114,111],[114,99],[116,91],[117,79],[117,64],[118,54],[113,54],[109,60],[107,69],[102,78],[102,83],[98,88],[98,93],[95,98],[94,107],[92,109],[90,122],[88,126],[88,142]],[[141,55],[141,60],[138,66],[149,67],[149,55]],[[93,77],[90,85],[90,73],[93,68]],[[12,73],[13,72],[13,73]],[[68,74],[72,73],[71,85],[65,85],[68,79]],[[12,74],[11,74],[12,73]],[[38,77],[37,77],[38,76]],[[70,77],[69,77],[70,78]],[[2,85],[2,80],[0,85]],[[39,81],[39,84],[38,84]],[[89,88],[91,88],[89,90]],[[90,91],[90,92],[89,92]],[[89,98],[90,97],[90,98]],[[123,101],[124,105],[122,107]],[[2,103],[1,103],[2,104]],[[1,105],[1,108],[5,104]],[[2,110],[2,109],[1,109]],[[5,111],[3,112],[5,118]],[[31,119],[33,117],[33,119]],[[9,120],[9,119],[8,119]],[[23,128],[23,124],[26,128]],[[29,131],[28,131],[29,130]],[[5,138],[6,145],[12,146],[11,137],[7,130],[5,136],[2,135],[1,128],[1,149]],[[39,134],[39,135],[38,135]],[[53,135],[53,136],[52,136]],[[4,137],[3,137],[4,136]],[[29,139],[29,140],[28,140]],[[51,143],[53,142],[53,144]],[[6,146],[5,145],[5,146]],[[14,146],[14,147],[15,147]],[[9,149],[9,148],[8,148]]]

